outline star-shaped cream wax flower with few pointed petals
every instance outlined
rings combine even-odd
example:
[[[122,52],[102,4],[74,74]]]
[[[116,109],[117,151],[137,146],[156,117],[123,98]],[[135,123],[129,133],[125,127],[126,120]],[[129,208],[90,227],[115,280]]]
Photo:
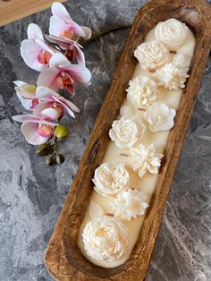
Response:
[[[160,159],[163,158],[163,154],[156,153],[156,149],[153,143],[145,148],[142,144],[138,148],[131,148],[131,156],[135,159],[135,163],[132,164],[133,171],[138,171],[139,177],[143,177],[148,171],[151,174],[158,173],[158,167],[160,166]]]

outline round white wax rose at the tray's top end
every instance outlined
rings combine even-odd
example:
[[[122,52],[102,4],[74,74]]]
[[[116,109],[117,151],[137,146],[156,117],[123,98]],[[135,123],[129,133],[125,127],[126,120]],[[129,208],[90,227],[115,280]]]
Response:
[[[177,49],[185,43],[189,34],[189,28],[185,23],[175,19],[159,22],[156,25],[156,39],[167,47]]]

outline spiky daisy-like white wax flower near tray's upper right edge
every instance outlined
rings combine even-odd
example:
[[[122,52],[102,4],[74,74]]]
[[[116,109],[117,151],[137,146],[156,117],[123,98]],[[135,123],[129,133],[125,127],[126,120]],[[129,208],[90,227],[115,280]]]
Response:
[[[156,77],[159,80],[159,85],[164,86],[165,89],[185,88],[185,81],[189,77],[187,74],[188,68],[181,69],[174,64],[165,64],[164,67],[156,72]]]

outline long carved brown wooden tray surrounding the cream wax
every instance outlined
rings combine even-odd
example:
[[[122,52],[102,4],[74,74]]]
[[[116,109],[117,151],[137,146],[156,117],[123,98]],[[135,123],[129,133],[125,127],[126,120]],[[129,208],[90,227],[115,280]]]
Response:
[[[118,268],[100,268],[86,260],[77,246],[80,224],[93,191],[91,178],[105,154],[108,130],[118,115],[137,61],[134,50],[159,21],[176,18],[185,22],[196,36],[196,47],[181,104],[165,149],[165,161],[156,182],[138,242],[131,258]],[[114,79],[101,107],[87,149],[80,162],[55,231],[46,250],[45,263],[56,280],[143,280],[153,251],[156,234],[165,209],[173,173],[211,46],[211,7],[203,0],[153,0],[138,13],[114,73]]]

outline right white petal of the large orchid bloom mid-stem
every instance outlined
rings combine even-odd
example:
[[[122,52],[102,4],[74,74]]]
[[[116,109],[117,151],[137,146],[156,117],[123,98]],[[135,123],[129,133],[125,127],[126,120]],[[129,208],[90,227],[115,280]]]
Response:
[[[61,68],[66,72],[70,73],[73,81],[86,85],[91,80],[91,72],[89,69],[84,65],[79,64],[63,64]]]

